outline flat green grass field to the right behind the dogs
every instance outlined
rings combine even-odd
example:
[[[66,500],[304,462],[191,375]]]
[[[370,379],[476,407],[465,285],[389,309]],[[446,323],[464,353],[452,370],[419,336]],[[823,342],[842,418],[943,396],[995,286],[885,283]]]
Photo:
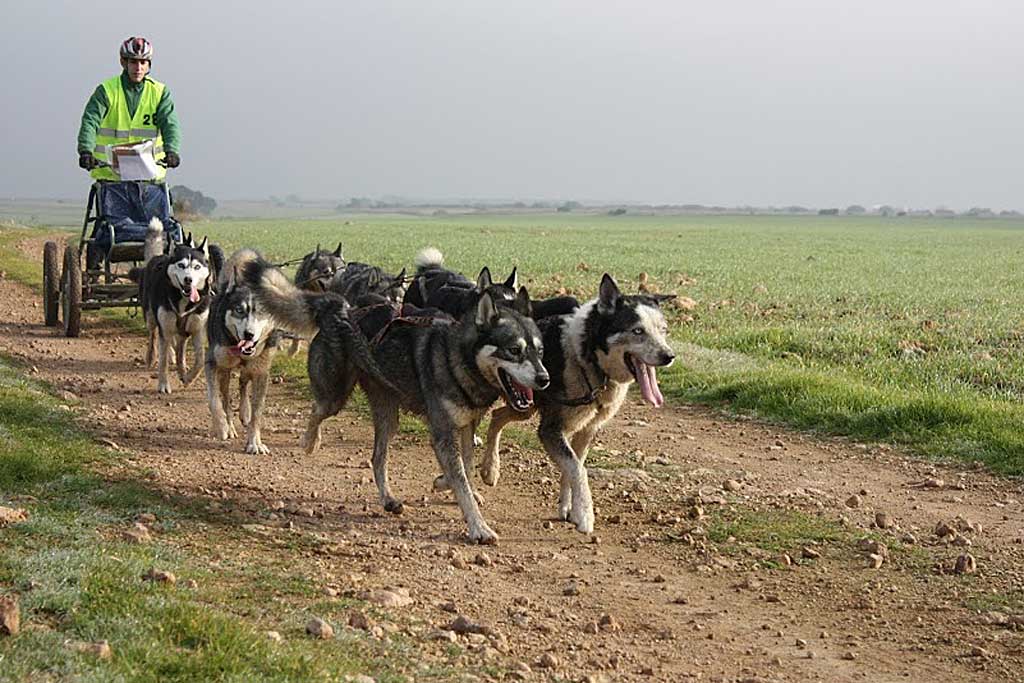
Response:
[[[394,271],[432,245],[471,275],[516,265],[535,296],[590,297],[603,271],[634,291],[643,271],[697,302],[670,309],[670,398],[1024,473],[1024,221],[558,214],[190,228],[280,261],[340,241],[347,259]]]

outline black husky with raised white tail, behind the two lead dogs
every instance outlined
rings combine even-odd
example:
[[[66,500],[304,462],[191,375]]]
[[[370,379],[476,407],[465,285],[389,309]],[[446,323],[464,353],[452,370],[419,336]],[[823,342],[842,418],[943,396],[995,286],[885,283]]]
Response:
[[[495,303],[501,305],[515,299],[519,289],[516,269],[503,283],[496,283],[490,269],[484,266],[470,282],[465,275],[443,267],[444,256],[433,247],[416,255],[416,274],[406,292],[403,303],[419,308],[438,308],[456,318],[462,318],[475,305],[483,292],[489,292]]]

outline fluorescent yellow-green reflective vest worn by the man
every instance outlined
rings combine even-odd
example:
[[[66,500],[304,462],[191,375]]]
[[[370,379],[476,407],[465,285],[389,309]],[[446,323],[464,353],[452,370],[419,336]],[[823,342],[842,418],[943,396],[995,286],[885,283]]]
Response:
[[[142,82],[142,96],[139,97],[138,108],[135,116],[128,114],[128,101],[125,98],[124,90],[121,89],[121,76],[103,81],[103,91],[106,93],[106,101],[110,106],[106,116],[99,122],[99,130],[96,131],[96,148],[92,156],[96,159],[111,163],[111,147],[115,144],[126,142],[143,142],[153,140],[154,157],[159,161],[164,158],[164,139],[157,128],[154,120],[157,116],[157,105],[164,95],[164,84],[146,78]],[[113,168],[94,168],[91,175],[96,180],[120,180],[120,176]],[[157,177],[154,180],[161,181],[167,175],[167,169],[157,166]]]

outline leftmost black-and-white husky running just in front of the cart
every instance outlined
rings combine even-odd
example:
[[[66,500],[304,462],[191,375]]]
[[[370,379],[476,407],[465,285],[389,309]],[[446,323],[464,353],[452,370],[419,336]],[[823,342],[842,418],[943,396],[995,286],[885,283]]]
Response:
[[[165,250],[163,224],[154,218],[145,233],[143,258],[144,267],[133,268],[129,275],[138,283],[139,305],[150,330],[145,365],[153,368],[159,345],[157,389],[170,393],[167,366],[172,346],[183,386],[188,386],[203,369],[203,329],[223,254],[205,238],[197,245],[191,233],[184,243],[172,243]],[[185,366],[185,343],[189,339],[196,356],[191,370]]]

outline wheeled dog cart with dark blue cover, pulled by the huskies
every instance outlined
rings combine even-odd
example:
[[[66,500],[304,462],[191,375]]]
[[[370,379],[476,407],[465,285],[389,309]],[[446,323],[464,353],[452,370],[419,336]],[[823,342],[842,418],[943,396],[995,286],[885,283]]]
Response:
[[[145,231],[153,218],[164,224],[165,246],[182,241],[166,183],[97,180],[92,184],[78,245],[68,245],[62,257],[55,242],[43,248],[47,326],[57,325],[59,312],[65,335],[77,337],[83,310],[138,305],[138,285],[128,278],[131,266],[118,265],[142,263]]]

